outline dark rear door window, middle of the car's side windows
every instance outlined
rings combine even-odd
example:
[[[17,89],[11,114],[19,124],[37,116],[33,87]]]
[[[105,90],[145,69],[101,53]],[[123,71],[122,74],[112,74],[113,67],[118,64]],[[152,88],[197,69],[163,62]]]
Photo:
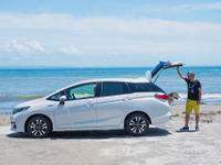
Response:
[[[125,82],[103,82],[102,96],[124,95],[128,94]]]

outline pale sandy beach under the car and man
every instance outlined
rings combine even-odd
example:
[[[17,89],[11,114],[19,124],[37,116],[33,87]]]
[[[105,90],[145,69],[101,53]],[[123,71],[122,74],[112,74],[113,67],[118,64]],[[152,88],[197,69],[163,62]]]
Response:
[[[0,165],[218,165],[221,164],[221,106],[201,105],[200,131],[180,132],[185,105],[171,107],[172,121],[150,127],[141,138],[124,131],[53,132],[31,139],[10,131],[10,114],[0,114]]]

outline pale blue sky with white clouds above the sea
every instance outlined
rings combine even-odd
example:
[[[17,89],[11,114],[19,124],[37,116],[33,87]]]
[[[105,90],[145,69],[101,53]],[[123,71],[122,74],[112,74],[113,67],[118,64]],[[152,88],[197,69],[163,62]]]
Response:
[[[0,67],[221,66],[221,0],[0,0]]]

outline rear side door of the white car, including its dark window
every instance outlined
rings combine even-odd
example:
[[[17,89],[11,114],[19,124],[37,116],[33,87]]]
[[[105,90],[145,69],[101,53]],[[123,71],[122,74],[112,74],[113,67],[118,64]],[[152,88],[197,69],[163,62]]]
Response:
[[[133,105],[133,94],[125,82],[101,84],[101,97],[97,98],[97,127],[116,127]]]

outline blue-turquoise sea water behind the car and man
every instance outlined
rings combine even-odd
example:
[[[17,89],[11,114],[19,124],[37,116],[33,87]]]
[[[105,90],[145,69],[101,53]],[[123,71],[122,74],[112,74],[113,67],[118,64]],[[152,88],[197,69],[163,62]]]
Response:
[[[151,67],[140,68],[0,68],[0,113],[10,113],[17,105],[46,96],[77,81],[96,78],[140,78]],[[203,103],[221,103],[221,67],[181,67],[196,73],[202,86]],[[155,79],[155,78],[154,78]],[[183,103],[187,84],[176,68],[165,69],[155,82],[167,94],[176,91]]]

